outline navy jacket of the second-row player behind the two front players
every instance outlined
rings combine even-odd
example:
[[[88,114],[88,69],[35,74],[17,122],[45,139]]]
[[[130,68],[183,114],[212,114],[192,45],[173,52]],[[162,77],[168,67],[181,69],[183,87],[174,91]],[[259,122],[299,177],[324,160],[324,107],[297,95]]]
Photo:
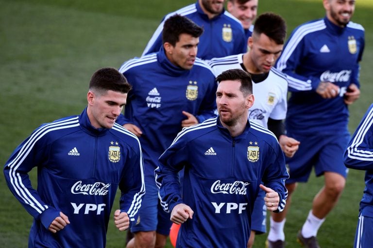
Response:
[[[124,116],[119,124],[138,126],[145,172],[152,176],[159,156],[170,146],[181,122],[182,111],[193,114],[201,123],[215,116],[217,83],[211,67],[196,59],[190,70],[173,65],[163,48],[141,58],[125,62],[119,71],[132,85]]]

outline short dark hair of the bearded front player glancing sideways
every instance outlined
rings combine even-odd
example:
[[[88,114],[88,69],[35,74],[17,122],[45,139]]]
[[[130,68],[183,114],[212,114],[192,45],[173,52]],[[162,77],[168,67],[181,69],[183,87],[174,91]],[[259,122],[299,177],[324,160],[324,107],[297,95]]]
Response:
[[[251,76],[248,72],[242,69],[230,69],[223,71],[220,73],[220,75],[218,75],[218,77],[216,77],[216,80],[219,83],[226,80],[240,81],[241,86],[239,87],[239,90],[245,97],[253,93],[253,81],[251,80]]]

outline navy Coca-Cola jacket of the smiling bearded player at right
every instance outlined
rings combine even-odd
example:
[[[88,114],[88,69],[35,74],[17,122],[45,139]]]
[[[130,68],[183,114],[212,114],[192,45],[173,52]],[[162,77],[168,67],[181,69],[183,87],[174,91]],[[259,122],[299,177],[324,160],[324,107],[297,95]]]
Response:
[[[364,29],[349,22],[341,28],[324,17],[297,27],[290,35],[276,67],[288,77],[286,127],[294,133],[347,131],[349,112],[343,95],[350,84],[359,87],[359,62],[364,50]],[[339,96],[324,99],[320,82],[339,86]]]

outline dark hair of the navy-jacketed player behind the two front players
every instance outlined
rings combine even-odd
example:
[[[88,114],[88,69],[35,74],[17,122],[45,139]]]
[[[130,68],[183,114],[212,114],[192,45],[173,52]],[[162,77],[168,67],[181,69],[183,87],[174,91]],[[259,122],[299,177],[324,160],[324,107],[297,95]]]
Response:
[[[179,41],[179,36],[182,33],[190,34],[192,37],[197,38],[203,33],[203,28],[185,16],[177,14],[170,16],[163,25],[163,44],[168,42],[174,47],[176,42]]]

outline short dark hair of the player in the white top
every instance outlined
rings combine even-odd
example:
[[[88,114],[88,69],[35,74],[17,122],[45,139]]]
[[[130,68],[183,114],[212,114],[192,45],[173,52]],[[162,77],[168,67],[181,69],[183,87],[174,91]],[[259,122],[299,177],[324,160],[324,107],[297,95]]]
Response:
[[[282,45],[286,37],[286,22],[281,16],[266,12],[258,16],[254,23],[254,34],[264,33],[276,44]]]

